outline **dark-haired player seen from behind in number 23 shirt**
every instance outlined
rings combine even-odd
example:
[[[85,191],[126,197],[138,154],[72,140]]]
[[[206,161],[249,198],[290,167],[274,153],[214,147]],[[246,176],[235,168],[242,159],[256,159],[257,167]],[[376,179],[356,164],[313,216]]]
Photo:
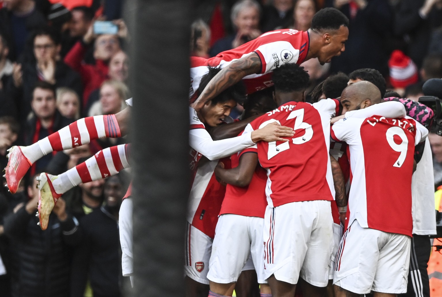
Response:
[[[267,169],[263,278],[268,280],[272,296],[293,296],[299,277],[306,281],[305,292],[320,294],[328,283],[330,201],[335,194],[328,154],[329,123],[339,102],[305,103],[309,75],[296,64],[281,66],[274,80],[281,81],[275,85],[274,96],[279,107],[255,119],[243,133],[270,122],[293,126],[296,132],[288,142],[254,146],[259,163]]]

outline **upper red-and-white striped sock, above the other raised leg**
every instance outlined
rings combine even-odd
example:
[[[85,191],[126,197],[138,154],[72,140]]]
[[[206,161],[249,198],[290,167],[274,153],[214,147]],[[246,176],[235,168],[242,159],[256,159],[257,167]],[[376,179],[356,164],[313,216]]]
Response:
[[[103,137],[121,137],[115,114],[80,118],[37,143],[22,147],[22,152],[33,164],[42,156],[46,156],[53,151],[59,152],[64,149],[75,148]]]

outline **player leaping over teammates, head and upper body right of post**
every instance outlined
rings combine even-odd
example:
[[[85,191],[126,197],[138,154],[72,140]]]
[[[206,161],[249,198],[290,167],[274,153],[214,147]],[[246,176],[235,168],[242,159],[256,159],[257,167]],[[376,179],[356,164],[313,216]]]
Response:
[[[200,90],[193,94],[198,99],[195,110],[221,91],[243,80],[248,94],[273,85],[271,72],[284,64],[301,64],[311,58],[318,58],[323,65],[345,50],[348,38],[348,19],[335,8],[324,8],[316,12],[307,31],[281,29],[260,35],[235,49],[217,54],[210,59],[191,57],[192,90],[198,89],[200,77],[207,72],[207,66],[222,68]]]

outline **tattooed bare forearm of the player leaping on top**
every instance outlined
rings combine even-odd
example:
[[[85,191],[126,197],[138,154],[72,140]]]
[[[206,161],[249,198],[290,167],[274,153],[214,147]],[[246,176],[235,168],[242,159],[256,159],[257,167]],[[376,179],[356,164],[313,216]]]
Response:
[[[192,107],[197,111],[200,110],[207,101],[242,80],[244,76],[260,72],[261,67],[261,59],[257,53],[250,53],[233,61],[210,80],[198,99],[192,104]]]

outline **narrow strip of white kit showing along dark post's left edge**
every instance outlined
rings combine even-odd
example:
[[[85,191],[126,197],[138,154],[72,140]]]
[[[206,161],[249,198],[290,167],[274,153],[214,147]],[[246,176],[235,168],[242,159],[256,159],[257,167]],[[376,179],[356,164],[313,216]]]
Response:
[[[121,265],[123,276],[133,275],[133,227],[132,227],[133,204],[131,198],[123,199],[120,206],[118,228],[121,244]]]

